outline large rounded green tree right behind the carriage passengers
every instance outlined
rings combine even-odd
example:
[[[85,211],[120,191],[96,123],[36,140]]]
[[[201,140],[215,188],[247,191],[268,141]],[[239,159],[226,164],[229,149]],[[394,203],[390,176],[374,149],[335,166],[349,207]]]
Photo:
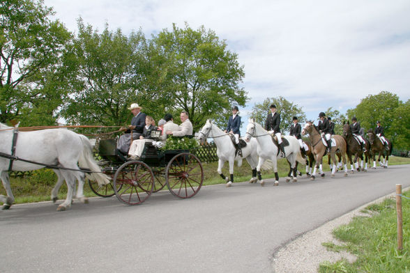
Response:
[[[160,85],[155,86],[169,111],[187,111],[194,130],[207,118],[227,120],[233,104],[244,106],[246,92],[239,86],[245,73],[238,56],[224,40],[204,26],[196,31],[185,24],[154,36],[151,62],[160,68]],[[154,58],[155,57],[155,58]]]

